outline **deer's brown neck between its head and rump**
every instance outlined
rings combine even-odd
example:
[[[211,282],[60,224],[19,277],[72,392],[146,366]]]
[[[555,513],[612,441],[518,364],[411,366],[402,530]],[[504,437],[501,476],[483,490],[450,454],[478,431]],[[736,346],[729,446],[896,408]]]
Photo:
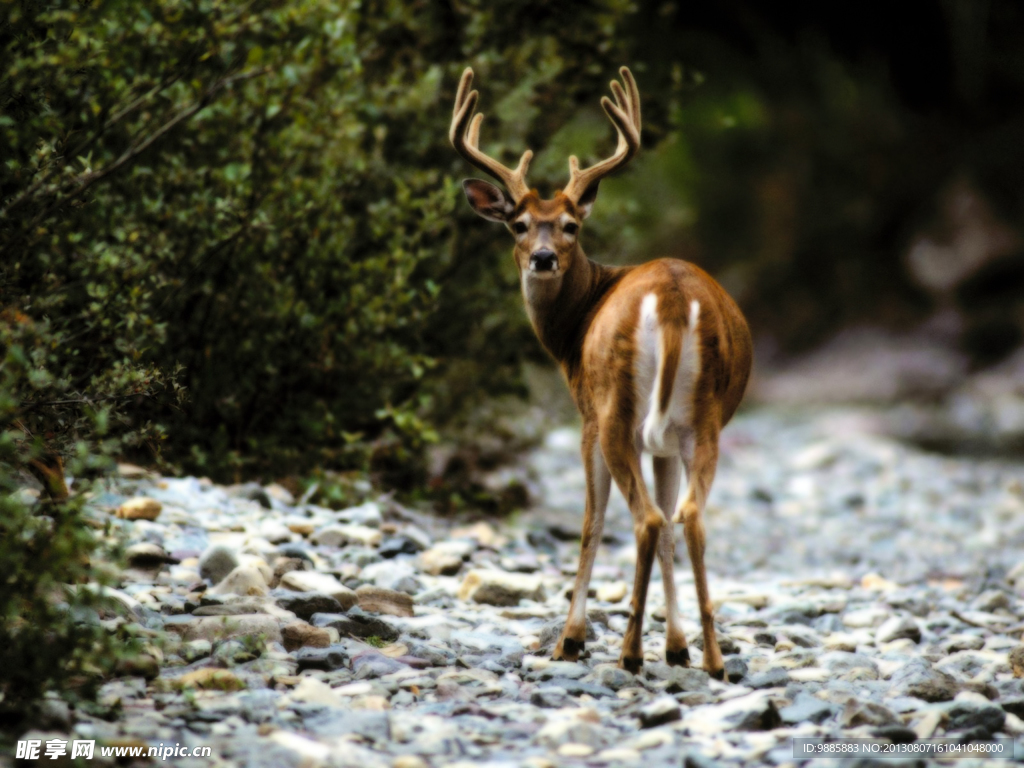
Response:
[[[579,362],[594,311],[622,268],[591,261],[578,245],[570,266],[554,280],[520,276],[526,313],[545,349],[566,370]]]

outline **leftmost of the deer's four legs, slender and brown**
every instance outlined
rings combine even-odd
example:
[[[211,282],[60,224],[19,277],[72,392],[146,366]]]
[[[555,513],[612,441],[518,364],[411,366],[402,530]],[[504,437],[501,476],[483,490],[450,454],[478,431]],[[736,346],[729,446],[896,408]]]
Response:
[[[594,558],[597,557],[597,549],[601,545],[604,511],[608,506],[608,493],[611,490],[611,475],[608,474],[604,457],[601,456],[597,444],[596,424],[584,427],[583,465],[587,473],[587,508],[580,543],[580,567],[572,587],[569,617],[552,654],[556,660],[575,662],[584,650],[587,639],[587,591],[590,589]]]

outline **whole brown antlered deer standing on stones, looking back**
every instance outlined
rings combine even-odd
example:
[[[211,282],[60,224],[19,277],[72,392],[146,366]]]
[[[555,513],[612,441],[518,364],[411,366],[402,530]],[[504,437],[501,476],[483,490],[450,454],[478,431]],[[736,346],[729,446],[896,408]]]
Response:
[[[611,83],[614,102],[601,99],[618,133],[614,154],[586,169],[569,158],[568,185],[551,200],[526,186],[529,150],[514,170],[480,152],[483,115],[473,116],[478,93],[470,90],[468,68],[449,137],[463,158],[505,185],[503,190],[479,179],[463,182],[473,210],[505,224],[515,238],[526,313],[561,366],[583,419],[587,506],[580,568],[554,657],[575,660],[584,650],[587,589],[614,480],[629,503],[637,541],[620,666],[635,673],[643,665],[644,604],[655,555],[665,580],[666,660],[689,666],[673,578],[672,523],[682,522],[703,629],[703,668],[721,680],[725,670],[705,573],[702,515],[719,432],[739,406],[750,376],[751,334],[736,304],[699,267],[678,259],[602,266],[580,247],[580,229],[601,179],[640,148],[640,94],[630,71],[620,72],[623,84]],[[641,473],[642,451],[653,455],[653,499]],[[688,484],[677,506],[682,465]]]

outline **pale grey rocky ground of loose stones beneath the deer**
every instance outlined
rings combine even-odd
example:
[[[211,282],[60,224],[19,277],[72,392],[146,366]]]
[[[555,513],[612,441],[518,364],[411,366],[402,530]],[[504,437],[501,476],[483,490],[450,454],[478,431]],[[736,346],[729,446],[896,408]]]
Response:
[[[171,761],[196,766],[792,765],[795,736],[879,734],[1024,755],[1024,466],[923,454],[874,421],[776,409],[726,430],[707,559],[728,684],[664,664],[656,569],[644,670],[615,667],[634,563],[617,495],[586,658],[551,660],[582,516],[570,428],[530,456],[540,501],[511,520],[122,478],[92,503],[132,563],[103,621],[169,639],[104,685],[109,718],[51,702],[27,736],[212,746]]]

